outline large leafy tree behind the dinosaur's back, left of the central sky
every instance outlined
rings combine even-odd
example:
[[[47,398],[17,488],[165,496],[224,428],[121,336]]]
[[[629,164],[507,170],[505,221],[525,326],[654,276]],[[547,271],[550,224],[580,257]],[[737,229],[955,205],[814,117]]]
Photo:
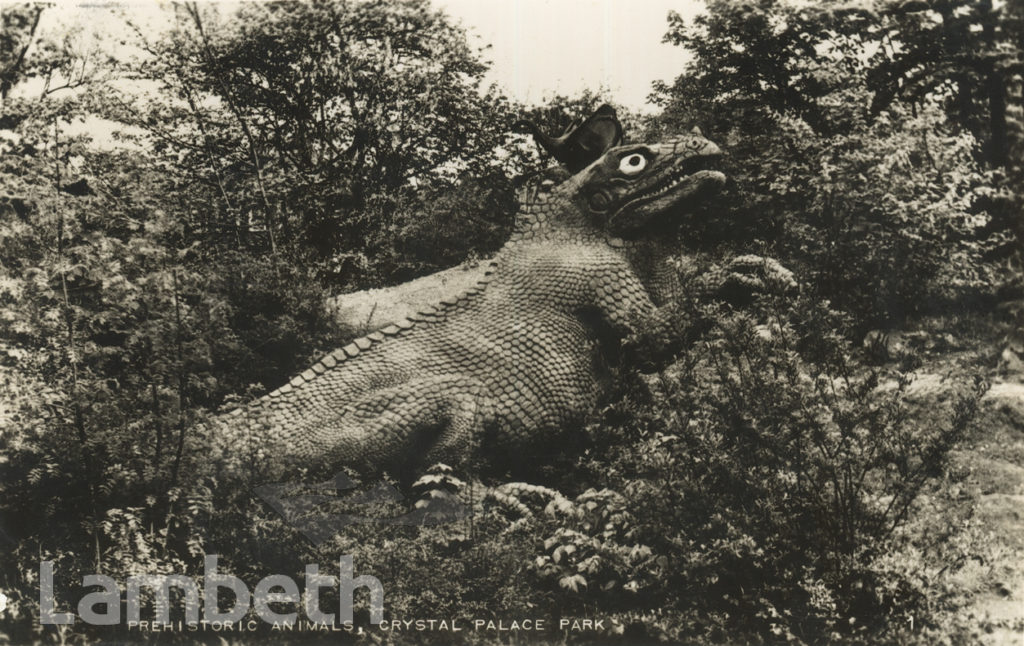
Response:
[[[177,100],[133,122],[219,193],[203,230],[261,232],[330,264],[387,240],[399,196],[516,163],[495,157],[509,103],[481,92],[479,53],[426,0],[253,4],[223,24],[213,11],[177,5],[135,71]]]

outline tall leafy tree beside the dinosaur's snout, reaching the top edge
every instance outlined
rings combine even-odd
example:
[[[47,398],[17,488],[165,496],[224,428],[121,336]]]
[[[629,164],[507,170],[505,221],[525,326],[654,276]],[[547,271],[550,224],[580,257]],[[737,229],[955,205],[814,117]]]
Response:
[[[880,60],[901,51],[895,7],[711,2],[692,25],[670,18],[666,39],[694,58],[654,95],[664,128],[697,123],[728,147],[735,185],[717,219],[739,224],[732,240],[802,267],[861,332],[993,283],[978,140],[941,91],[879,102]]]

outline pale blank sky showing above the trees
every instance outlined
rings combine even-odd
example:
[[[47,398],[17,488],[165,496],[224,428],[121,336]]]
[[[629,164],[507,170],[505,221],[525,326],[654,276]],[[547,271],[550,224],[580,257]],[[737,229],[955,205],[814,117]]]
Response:
[[[5,0],[0,0],[3,2]],[[574,95],[589,88],[608,91],[616,103],[640,112],[655,79],[680,74],[686,53],[662,43],[670,10],[692,17],[698,0],[432,0],[461,23],[492,62],[486,81],[525,103],[555,93]],[[159,0],[111,3],[58,0],[44,12],[44,26],[59,32],[72,26],[106,37],[127,35],[118,13],[146,31],[168,25]],[[229,7],[225,7],[228,9]]]

